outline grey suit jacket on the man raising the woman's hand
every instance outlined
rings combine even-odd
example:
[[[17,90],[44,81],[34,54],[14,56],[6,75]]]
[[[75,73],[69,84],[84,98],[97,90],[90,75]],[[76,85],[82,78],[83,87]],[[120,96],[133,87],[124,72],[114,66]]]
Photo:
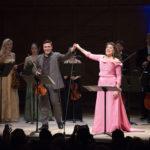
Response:
[[[55,85],[52,85],[54,89],[60,89],[64,87],[63,79],[60,73],[59,63],[62,61],[65,61],[66,59],[69,59],[72,56],[71,51],[69,50],[66,54],[61,54],[59,52],[52,52],[50,55],[50,70],[49,70],[49,76],[53,79],[55,82]],[[43,60],[44,60],[44,53],[39,55],[36,60],[36,66],[37,68],[43,68]],[[33,67],[33,73],[35,74],[36,68]]]

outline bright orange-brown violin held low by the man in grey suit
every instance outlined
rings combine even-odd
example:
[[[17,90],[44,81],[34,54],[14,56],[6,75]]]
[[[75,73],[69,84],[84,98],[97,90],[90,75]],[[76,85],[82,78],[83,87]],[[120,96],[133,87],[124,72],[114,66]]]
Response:
[[[40,72],[41,73],[41,68],[37,68],[36,64],[32,61],[36,71]],[[38,76],[36,76],[36,80],[39,80],[38,79]],[[35,95],[41,95],[41,96],[45,96],[47,93],[47,89],[44,87],[43,84],[39,84],[37,86],[37,84],[35,84]]]

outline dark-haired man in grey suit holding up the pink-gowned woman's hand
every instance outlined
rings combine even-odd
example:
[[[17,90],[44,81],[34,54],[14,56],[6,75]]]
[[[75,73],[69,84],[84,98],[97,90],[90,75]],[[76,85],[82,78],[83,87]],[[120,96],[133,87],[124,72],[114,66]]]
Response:
[[[46,40],[43,42],[43,50],[44,53],[39,55],[36,60],[36,67],[33,68],[33,73],[38,75],[48,75],[55,82],[54,85],[46,84],[47,95],[41,96],[40,100],[40,109],[41,109],[41,118],[42,118],[42,127],[48,129],[48,119],[49,119],[49,109],[48,103],[49,98],[50,102],[53,106],[54,116],[56,122],[58,124],[58,128],[63,128],[62,123],[62,111],[61,111],[61,103],[60,103],[60,89],[64,87],[63,79],[59,69],[59,63],[65,61],[73,54],[75,48],[70,48],[69,51],[64,55],[59,52],[53,51],[53,45],[50,40]],[[40,68],[39,72],[37,68]]]

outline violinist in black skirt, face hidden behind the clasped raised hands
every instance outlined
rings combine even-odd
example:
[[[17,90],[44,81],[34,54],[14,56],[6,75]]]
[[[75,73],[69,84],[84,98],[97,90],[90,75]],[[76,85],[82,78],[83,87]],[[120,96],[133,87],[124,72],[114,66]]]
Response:
[[[82,62],[72,56],[70,59],[66,60],[64,64],[81,64]],[[80,91],[80,78],[81,76],[75,75],[74,71],[72,76],[64,76],[65,79],[65,100],[64,100],[64,110],[63,110],[63,119],[67,120],[80,120],[82,121],[82,104],[81,104],[81,91]],[[70,90],[69,90],[70,88]],[[68,92],[70,91],[69,101],[68,101]],[[68,102],[68,108],[66,112],[66,104]],[[65,116],[66,115],[66,116]]]

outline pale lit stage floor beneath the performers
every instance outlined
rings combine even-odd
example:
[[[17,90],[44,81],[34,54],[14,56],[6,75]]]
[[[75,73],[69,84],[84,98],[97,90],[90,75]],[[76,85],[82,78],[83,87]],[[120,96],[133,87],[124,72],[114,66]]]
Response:
[[[143,130],[143,132],[125,132],[125,136],[131,136],[131,137],[139,137],[143,139],[144,141],[149,142],[150,138],[150,124],[148,124],[146,121],[141,121],[139,116],[132,116],[131,121],[137,123],[137,125],[131,125],[132,128],[140,129]],[[83,122],[77,121],[76,123],[73,123],[72,121],[67,121],[66,122],[66,127],[65,127],[65,133],[66,135],[71,135],[74,129],[74,126],[76,124],[79,125],[85,125],[87,124],[90,128],[90,131],[92,131],[92,124],[93,124],[93,116],[92,115],[85,115],[83,117]],[[0,135],[3,133],[5,124],[0,124]],[[11,128],[12,130],[16,128],[21,128],[25,131],[27,136],[30,136],[30,133],[36,130],[36,123],[30,124],[30,123],[25,123],[25,121],[19,121],[16,123],[11,123]],[[39,127],[41,126],[41,122],[39,122]],[[55,133],[64,133],[64,129],[58,129],[58,126],[55,121],[49,121],[49,130],[51,131],[52,134]],[[91,134],[93,134],[91,132]],[[94,135],[94,134],[93,134]],[[38,137],[38,133],[36,133],[34,138]],[[94,138],[96,141],[101,141],[101,142],[111,142],[111,137],[108,135],[104,134],[98,134],[94,135]]]

